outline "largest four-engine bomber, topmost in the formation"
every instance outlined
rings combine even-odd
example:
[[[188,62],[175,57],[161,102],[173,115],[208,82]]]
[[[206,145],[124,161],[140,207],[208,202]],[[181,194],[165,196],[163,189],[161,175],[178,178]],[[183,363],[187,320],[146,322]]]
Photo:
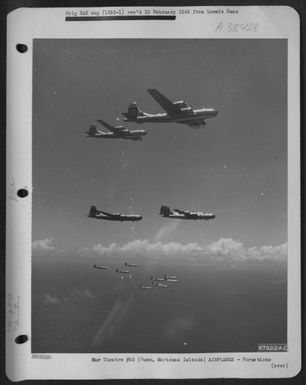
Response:
[[[155,88],[149,88],[147,91],[166,113],[148,114],[140,111],[136,103],[132,103],[127,112],[122,112],[122,115],[125,116],[125,122],[176,122],[187,124],[193,128],[203,128],[206,119],[213,118],[218,114],[218,111],[214,108],[193,109],[187,106],[184,101],[171,102]]]

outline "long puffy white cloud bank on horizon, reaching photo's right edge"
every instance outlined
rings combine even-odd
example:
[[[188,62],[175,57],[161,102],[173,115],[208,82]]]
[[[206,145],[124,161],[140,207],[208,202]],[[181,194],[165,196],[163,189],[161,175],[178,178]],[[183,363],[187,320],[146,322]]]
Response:
[[[103,257],[141,255],[143,258],[183,257],[184,259],[197,260],[284,261],[287,259],[288,250],[287,243],[278,246],[246,248],[242,242],[232,238],[221,238],[205,247],[201,247],[197,242],[181,244],[179,242],[163,243],[149,239],[138,239],[123,245],[117,243],[112,243],[109,246],[96,244],[92,248],[79,250],[79,254]]]

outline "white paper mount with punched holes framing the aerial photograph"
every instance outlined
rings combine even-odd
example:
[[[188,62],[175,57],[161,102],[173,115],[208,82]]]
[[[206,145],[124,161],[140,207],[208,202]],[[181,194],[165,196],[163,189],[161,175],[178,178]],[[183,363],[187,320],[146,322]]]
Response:
[[[124,8],[127,14],[131,7]],[[103,10],[116,10],[116,7]],[[7,44],[7,237],[6,237],[6,372],[14,381],[25,379],[125,379],[125,378],[283,378],[301,369],[300,298],[300,42],[299,16],[287,6],[209,7],[223,14],[194,14],[208,7],[135,7],[167,14],[176,20],[67,22],[69,12],[99,11],[102,8],[20,8],[8,15]],[[236,9],[239,14],[226,12]],[[180,13],[180,10],[182,12]],[[184,13],[183,10],[190,10]],[[39,20],[39,22],[37,22]],[[252,31],[231,31],[229,23],[257,23]],[[158,26],[158,28],[157,28]],[[271,363],[219,362],[163,364],[142,362],[101,364],[93,357],[123,357],[126,354],[50,354],[44,359],[31,352],[31,221],[32,221],[32,70],[33,39],[288,39],[288,352],[269,353]],[[20,53],[16,44],[26,44]],[[17,196],[19,189],[29,195]],[[11,315],[15,306],[17,311]],[[29,341],[16,344],[19,335]],[[180,354],[181,356],[183,354]],[[188,354],[191,356],[192,354]],[[199,354],[196,354],[199,356]],[[163,354],[175,357],[176,354]],[[201,354],[208,357],[208,353]],[[215,357],[260,357],[262,353],[215,353]],[[119,367],[120,365],[120,367]],[[279,365],[279,367],[278,367]],[[284,366],[285,365],[285,366]],[[119,370],[120,368],[120,370]]]

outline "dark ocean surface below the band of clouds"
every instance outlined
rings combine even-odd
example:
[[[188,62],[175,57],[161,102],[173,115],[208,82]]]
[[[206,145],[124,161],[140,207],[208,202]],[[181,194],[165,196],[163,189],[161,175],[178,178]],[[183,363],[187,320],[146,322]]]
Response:
[[[164,274],[178,282],[140,288]],[[34,353],[256,352],[259,343],[287,342],[287,267],[182,256],[35,257],[31,341]]]

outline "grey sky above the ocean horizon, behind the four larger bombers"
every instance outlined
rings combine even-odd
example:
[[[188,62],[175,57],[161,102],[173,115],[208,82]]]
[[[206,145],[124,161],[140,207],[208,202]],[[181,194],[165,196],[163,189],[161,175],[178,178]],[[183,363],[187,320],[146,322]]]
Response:
[[[33,59],[36,253],[153,244],[157,254],[176,245],[258,257],[286,244],[285,40],[42,39]],[[123,123],[130,102],[162,111],[150,87],[219,114],[204,129]],[[97,119],[148,134],[142,142],[86,138]],[[92,204],[143,220],[89,219]],[[171,221],[158,215],[162,204],[216,218]]]

